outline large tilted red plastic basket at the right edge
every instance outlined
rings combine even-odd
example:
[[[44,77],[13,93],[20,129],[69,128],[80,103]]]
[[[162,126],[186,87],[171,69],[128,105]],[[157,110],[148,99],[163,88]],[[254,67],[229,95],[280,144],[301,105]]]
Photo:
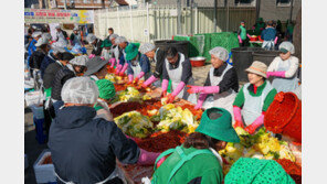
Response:
[[[302,142],[302,101],[293,93],[278,93],[265,113],[264,126]]]

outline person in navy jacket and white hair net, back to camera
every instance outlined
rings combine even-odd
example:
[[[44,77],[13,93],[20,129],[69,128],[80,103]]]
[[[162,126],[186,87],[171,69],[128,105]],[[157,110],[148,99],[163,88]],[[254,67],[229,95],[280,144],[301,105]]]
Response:
[[[139,149],[114,121],[96,117],[93,106],[98,94],[89,77],[74,77],[63,86],[65,105],[51,125],[48,143],[59,184],[120,184],[116,159],[124,164],[154,164],[158,156]]]

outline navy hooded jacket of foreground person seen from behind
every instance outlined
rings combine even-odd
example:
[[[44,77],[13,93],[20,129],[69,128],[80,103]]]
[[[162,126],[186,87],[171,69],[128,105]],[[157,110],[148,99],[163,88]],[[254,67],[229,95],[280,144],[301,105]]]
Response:
[[[140,150],[114,121],[95,118],[86,106],[60,109],[51,123],[49,148],[54,170],[66,181],[92,184],[104,181],[116,167],[138,161]]]

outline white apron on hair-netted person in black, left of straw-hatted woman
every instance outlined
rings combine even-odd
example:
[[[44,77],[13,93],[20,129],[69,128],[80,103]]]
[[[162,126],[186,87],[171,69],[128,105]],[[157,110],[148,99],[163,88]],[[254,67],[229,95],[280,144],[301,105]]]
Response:
[[[220,82],[223,79],[225,73],[230,71],[233,66],[228,65],[226,68],[223,71],[222,75],[220,77],[217,77],[213,75],[214,68],[211,67],[209,72],[209,77],[210,77],[210,84],[211,86],[218,86]],[[208,109],[211,107],[219,107],[219,108],[224,108],[226,109],[231,115],[232,119],[233,118],[233,102],[235,100],[236,93],[233,89],[229,89],[228,91],[221,93],[221,94],[213,94],[213,101],[208,101],[205,100],[203,102],[203,108]]]

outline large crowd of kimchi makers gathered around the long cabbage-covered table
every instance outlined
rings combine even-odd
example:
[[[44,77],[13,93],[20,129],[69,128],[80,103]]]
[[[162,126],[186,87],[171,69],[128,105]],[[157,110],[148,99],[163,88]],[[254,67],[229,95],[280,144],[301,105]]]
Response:
[[[123,164],[155,164],[151,180],[144,178],[145,183],[221,183],[223,162],[218,152],[228,142],[240,142],[234,128],[243,127],[254,133],[263,126],[274,96],[298,87],[298,61],[292,56],[294,46],[289,42],[279,45],[281,54],[271,66],[253,62],[245,71],[250,83],[239,90],[236,71],[226,63],[229,52],[223,47],[209,52],[212,66],[205,83],[194,86],[190,61],[176,47],[139,45],[118,36],[113,29],[108,31],[109,36],[104,41],[87,35],[93,47],[88,56],[73,55],[61,42],[50,44],[36,39],[35,52],[43,59],[41,56],[33,59],[31,72],[40,69],[42,74],[48,97],[44,101],[48,144],[59,183],[123,183],[116,159]],[[155,71],[150,69],[150,62],[156,65]],[[151,84],[161,86],[161,97],[167,102],[182,98],[196,104],[196,109],[205,109],[196,132],[182,145],[164,153],[138,148],[134,138],[124,134],[113,120],[108,104],[116,90],[105,79],[108,67],[115,68],[117,75],[127,75],[128,83],[144,80],[144,88]],[[272,76],[275,79],[271,84],[267,78]],[[169,80],[170,94],[167,93]],[[254,169],[256,173],[249,172]],[[278,171],[271,175],[271,183],[294,183],[275,161],[256,159],[240,159],[224,183],[240,183],[249,177],[261,183],[270,170]]]

